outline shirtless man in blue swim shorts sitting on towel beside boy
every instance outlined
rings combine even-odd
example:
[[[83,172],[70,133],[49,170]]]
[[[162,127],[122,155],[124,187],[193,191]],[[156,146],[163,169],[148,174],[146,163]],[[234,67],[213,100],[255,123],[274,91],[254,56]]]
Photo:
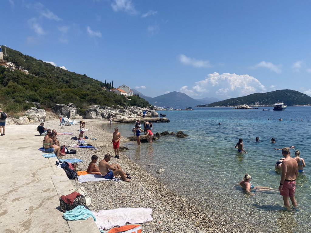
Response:
[[[107,153],[105,154],[105,158],[99,162],[98,168],[101,175],[104,176],[105,179],[112,179],[114,176],[119,174],[124,181],[129,182],[131,177],[126,176],[125,172],[122,171],[121,167],[117,169],[116,166],[110,165],[108,163],[110,158],[111,155]]]

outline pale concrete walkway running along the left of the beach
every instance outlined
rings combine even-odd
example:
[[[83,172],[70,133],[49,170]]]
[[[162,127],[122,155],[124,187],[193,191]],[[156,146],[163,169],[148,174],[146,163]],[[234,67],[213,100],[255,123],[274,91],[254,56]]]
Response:
[[[1,232],[72,232],[99,230],[93,219],[63,219],[59,197],[70,194],[73,186],[56,158],[44,158],[38,150],[43,136],[34,125],[6,126],[0,137]],[[44,152],[45,153],[45,152]]]

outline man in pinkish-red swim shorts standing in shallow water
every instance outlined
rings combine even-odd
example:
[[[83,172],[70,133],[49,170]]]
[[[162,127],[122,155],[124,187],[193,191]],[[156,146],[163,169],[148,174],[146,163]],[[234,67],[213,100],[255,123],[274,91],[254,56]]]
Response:
[[[296,178],[298,176],[298,163],[295,159],[290,157],[290,150],[288,147],[282,149],[282,155],[285,159],[282,161],[282,175],[279,186],[280,194],[283,196],[285,208],[290,211],[290,202],[297,208],[297,202],[295,200],[295,185]]]

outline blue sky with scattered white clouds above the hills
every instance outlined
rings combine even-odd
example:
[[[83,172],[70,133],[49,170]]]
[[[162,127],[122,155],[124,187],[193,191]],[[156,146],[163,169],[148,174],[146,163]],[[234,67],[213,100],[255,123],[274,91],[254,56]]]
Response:
[[[0,44],[115,87],[151,97],[311,96],[310,1],[3,0],[1,8]]]

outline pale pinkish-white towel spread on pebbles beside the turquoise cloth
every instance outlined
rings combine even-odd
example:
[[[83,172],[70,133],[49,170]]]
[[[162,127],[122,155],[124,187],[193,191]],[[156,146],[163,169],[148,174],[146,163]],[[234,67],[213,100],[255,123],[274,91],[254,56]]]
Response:
[[[131,224],[152,221],[151,208],[118,208],[91,211],[96,218],[96,225],[100,230],[109,229],[114,226],[123,226],[127,222]]]

